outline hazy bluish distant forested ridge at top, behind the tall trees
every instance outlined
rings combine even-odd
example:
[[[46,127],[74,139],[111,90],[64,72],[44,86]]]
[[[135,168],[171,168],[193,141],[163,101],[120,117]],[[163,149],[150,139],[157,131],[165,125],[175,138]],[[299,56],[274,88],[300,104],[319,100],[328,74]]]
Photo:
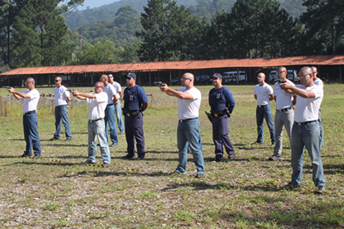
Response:
[[[177,0],[177,5],[184,5],[190,8],[192,14],[198,17],[207,17],[211,19],[215,16],[216,11],[224,10],[230,11],[236,0]],[[302,6],[302,0],[278,0],[281,3],[281,7],[286,9],[293,17],[299,17],[305,8]],[[109,5],[75,11],[69,14],[65,19],[69,28],[78,28],[80,26],[96,23],[98,21],[113,21],[116,16],[116,12],[122,6],[129,5],[138,13],[144,12],[143,7],[147,6],[147,0],[120,0]]]

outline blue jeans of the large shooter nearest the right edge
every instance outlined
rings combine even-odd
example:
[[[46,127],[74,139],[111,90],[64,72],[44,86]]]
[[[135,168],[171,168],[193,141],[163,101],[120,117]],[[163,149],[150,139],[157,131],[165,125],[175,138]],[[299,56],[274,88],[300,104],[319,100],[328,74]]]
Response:
[[[306,148],[312,160],[313,182],[316,187],[325,186],[323,163],[320,156],[319,121],[292,126],[292,184],[301,185],[303,170],[303,151]]]

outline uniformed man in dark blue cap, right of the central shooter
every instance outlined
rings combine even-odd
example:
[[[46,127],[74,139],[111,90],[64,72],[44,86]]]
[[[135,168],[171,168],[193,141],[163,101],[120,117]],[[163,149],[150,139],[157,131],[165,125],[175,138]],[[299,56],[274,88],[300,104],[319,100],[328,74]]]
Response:
[[[228,159],[235,158],[232,142],[228,137],[228,121],[232,113],[235,101],[232,92],[222,86],[222,75],[213,75],[213,85],[215,88],[209,91],[209,105],[211,106],[211,122],[213,123],[213,141],[215,144],[215,158],[213,161],[224,160],[224,148],[228,153]]]

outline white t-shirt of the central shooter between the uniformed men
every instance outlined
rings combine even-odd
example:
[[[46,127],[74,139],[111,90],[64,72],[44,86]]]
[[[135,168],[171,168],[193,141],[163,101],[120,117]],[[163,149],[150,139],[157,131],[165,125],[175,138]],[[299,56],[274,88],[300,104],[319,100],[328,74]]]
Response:
[[[189,92],[192,96],[192,100],[183,100],[178,98],[178,118],[179,119],[189,119],[189,118],[198,118],[202,94],[201,91],[195,87],[186,90],[185,87],[178,89],[184,93]]]

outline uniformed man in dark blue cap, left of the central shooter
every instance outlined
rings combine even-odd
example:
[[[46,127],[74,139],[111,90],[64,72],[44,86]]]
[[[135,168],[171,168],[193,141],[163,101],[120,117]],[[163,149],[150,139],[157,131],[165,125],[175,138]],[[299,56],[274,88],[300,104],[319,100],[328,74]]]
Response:
[[[128,154],[123,159],[131,159],[135,155],[135,140],[138,149],[136,160],[144,159],[143,113],[148,107],[148,98],[144,89],[136,85],[136,74],[129,72],[126,76],[128,87],[125,89],[123,100],[123,115],[125,116],[125,138],[127,139]]]

